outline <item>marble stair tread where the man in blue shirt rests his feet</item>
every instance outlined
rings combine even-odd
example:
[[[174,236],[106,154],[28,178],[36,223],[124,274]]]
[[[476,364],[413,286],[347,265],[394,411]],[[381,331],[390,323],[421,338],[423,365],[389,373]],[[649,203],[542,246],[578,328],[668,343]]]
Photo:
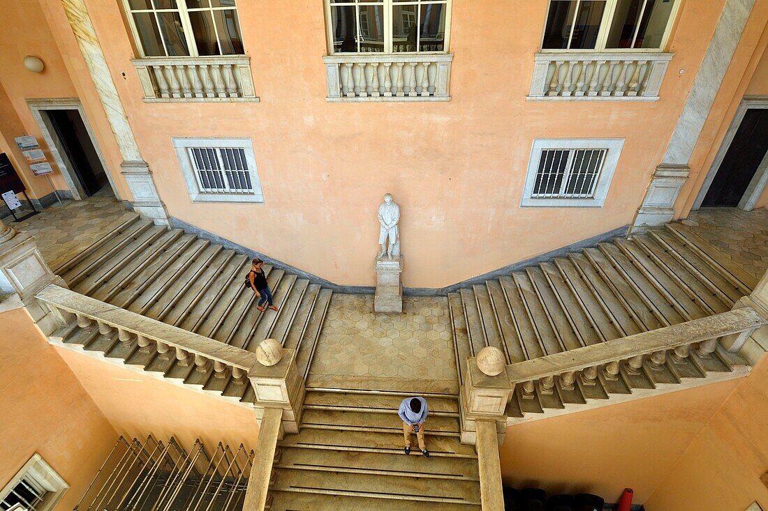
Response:
[[[415,442],[415,437],[412,438]],[[475,447],[459,443],[456,437],[440,437],[425,430],[425,442],[431,456],[476,458]],[[399,433],[366,433],[361,431],[318,430],[303,428],[300,434],[288,435],[282,447],[308,449],[355,450],[364,452],[402,453],[402,428]],[[412,456],[418,453],[411,453]],[[405,454],[402,454],[405,456]]]

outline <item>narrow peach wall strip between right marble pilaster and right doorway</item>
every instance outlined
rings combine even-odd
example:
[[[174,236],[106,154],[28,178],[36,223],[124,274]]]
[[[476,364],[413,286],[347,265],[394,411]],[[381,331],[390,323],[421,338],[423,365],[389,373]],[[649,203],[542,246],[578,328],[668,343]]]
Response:
[[[768,45],[768,2],[755,2],[749,21],[707,117],[693,156],[690,177],[675,205],[677,216],[684,218],[694,206],[699,190],[720,150],[733,116],[745,95],[768,94],[766,45]],[[768,190],[756,208],[768,206]]]

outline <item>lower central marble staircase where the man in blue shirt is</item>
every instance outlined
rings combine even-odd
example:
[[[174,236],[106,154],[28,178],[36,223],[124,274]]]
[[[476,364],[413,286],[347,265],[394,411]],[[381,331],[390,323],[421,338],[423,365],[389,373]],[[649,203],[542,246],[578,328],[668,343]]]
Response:
[[[299,434],[278,443],[268,507],[480,509],[474,446],[460,443],[455,395],[426,395],[429,459],[402,451],[397,416],[405,394],[308,388]]]

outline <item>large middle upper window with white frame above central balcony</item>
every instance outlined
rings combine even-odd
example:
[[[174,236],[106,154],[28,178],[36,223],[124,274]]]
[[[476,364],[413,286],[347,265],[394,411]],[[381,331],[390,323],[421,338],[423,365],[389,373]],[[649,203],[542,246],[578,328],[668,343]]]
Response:
[[[445,53],[451,0],[325,0],[330,53]]]

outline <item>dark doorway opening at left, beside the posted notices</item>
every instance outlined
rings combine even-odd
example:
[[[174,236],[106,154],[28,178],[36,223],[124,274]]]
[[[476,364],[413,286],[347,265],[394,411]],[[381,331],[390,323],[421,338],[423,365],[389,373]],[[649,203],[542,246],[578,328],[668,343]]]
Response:
[[[88,130],[78,110],[45,110],[64,147],[71,173],[77,177],[85,192],[91,196],[101,190],[107,181],[104,166],[94,148]],[[62,155],[65,156],[65,155]]]

